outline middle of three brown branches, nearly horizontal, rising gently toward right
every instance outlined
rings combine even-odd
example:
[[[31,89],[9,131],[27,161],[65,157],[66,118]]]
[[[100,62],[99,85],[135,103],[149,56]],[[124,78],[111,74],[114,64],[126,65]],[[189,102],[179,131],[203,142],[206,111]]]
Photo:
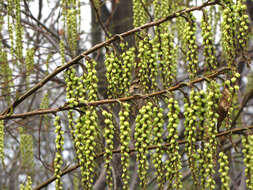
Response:
[[[175,86],[172,86],[172,87],[168,88],[167,90],[161,90],[161,91],[153,92],[153,93],[150,93],[150,94],[144,94],[144,95],[136,94],[136,95],[133,95],[133,96],[117,98],[117,99],[104,99],[104,100],[92,101],[92,102],[87,102],[87,103],[80,103],[79,105],[77,105],[74,108],[83,107],[83,106],[98,106],[98,105],[103,105],[103,104],[126,102],[126,101],[136,100],[136,99],[151,98],[151,97],[154,97],[154,96],[158,96],[158,95],[162,95],[162,94],[165,94],[165,93],[168,93],[168,92],[178,90],[179,88],[184,87],[184,86],[191,86],[193,84],[202,82],[202,81],[207,80],[207,79],[213,79],[213,78],[217,77],[218,75],[223,74],[223,73],[225,73],[229,70],[230,69],[228,67],[224,67],[224,68],[221,68],[221,69],[215,71],[212,74],[206,75],[205,77],[197,78],[195,80],[189,81],[188,83],[180,82],[180,83],[176,84]],[[1,119],[25,118],[25,117],[29,117],[29,116],[35,116],[35,115],[57,113],[57,112],[65,111],[65,110],[69,110],[69,109],[73,109],[73,107],[69,106],[66,103],[64,106],[61,106],[61,107],[58,107],[58,108],[39,109],[39,110],[26,112],[26,113],[13,114],[13,115],[3,115],[3,116],[0,116],[0,120]]]

